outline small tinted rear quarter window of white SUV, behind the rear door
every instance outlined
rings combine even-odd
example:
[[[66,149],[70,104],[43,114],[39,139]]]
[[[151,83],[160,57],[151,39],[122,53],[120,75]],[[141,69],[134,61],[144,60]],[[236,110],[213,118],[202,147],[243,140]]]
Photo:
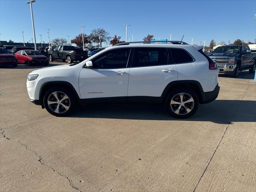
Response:
[[[176,64],[190,63],[194,61],[192,56],[184,49],[170,48],[170,50]]]

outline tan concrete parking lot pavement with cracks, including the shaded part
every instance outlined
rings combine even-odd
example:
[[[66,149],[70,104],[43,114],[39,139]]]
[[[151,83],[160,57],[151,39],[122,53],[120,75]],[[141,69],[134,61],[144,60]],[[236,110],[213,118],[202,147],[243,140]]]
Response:
[[[184,120],[135,104],[60,118],[28,99],[42,67],[0,69],[0,191],[256,191],[254,74],[220,75],[217,100]]]

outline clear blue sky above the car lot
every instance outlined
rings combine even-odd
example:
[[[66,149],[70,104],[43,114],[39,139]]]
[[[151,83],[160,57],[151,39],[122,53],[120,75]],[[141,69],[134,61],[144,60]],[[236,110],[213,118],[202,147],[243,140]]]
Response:
[[[254,42],[256,39],[256,0],[36,0],[32,4],[36,42],[70,40],[94,28],[104,28],[110,36],[125,40],[134,33],[134,41],[148,34],[155,39],[181,40],[191,44],[209,45],[236,39]],[[0,40],[25,42],[33,38],[30,6],[26,0],[0,0]]]

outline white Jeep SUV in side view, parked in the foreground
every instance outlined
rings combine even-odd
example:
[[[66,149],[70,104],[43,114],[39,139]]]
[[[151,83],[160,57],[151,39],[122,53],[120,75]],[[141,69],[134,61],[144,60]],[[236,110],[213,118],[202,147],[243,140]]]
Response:
[[[30,101],[55,116],[92,102],[163,103],[176,118],[191,116],[215,100],[218,66],[202,46],[184,42],[128,42],[106,48],[79,64],[28,74]]]

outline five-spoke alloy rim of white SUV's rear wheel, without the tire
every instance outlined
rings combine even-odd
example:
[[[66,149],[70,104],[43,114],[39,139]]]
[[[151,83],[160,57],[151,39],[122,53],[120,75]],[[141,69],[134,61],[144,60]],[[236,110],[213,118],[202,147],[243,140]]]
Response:
[[[188,93],[178,93],[173,96],[170,106],[174,113],[185,115],[194,108],[194,99]]]

